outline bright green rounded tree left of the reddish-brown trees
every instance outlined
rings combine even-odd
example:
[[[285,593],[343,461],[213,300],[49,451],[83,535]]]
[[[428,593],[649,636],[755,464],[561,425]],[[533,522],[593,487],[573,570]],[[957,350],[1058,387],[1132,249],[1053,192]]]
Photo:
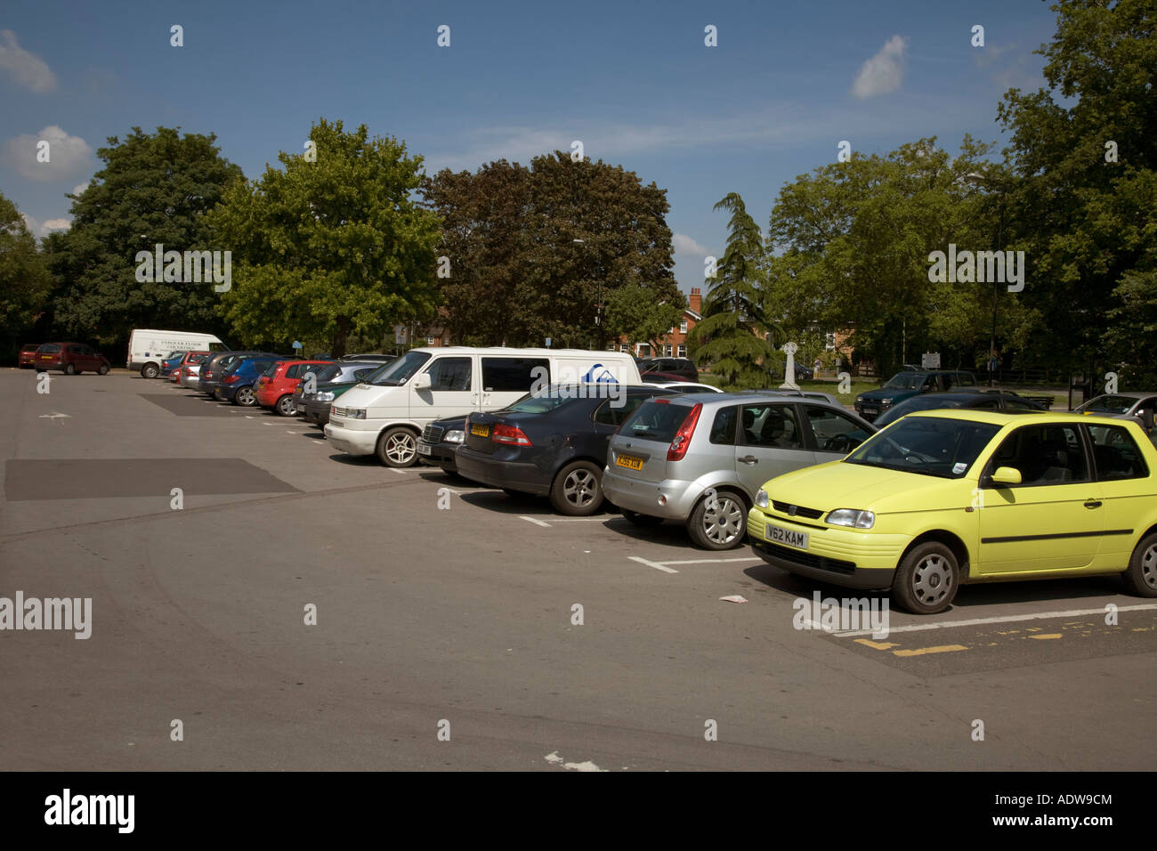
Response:
[[[413,198],[422,157],[403,142],[325,119],[309,139],[316,161],[281,152],[209,217],[234,252],[222,311],[246,344],[323,337],[340,355],[351,335],[434,316],[439,219]]]

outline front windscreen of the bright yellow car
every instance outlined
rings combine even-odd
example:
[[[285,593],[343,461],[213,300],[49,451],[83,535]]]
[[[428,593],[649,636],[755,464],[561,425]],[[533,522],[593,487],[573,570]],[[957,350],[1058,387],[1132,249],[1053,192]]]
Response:
[[[1000,430],[966,419],[906,417],[865,441],[843,462],[960,478]]]

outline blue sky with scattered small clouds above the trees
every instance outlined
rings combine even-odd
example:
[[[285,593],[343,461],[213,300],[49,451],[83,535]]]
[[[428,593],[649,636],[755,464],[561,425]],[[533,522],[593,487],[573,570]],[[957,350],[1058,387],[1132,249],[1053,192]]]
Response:
[[[722,252],[727,215],[712,206],[728,192],[766,228],[780,188],[841,140],[863,153],[924,135],[951,151],[965,133],[1003,144],[1000,97],[1044,85],[1033,51],[1054,30],[1034,0],[9,0],[0,15],[0,192],[38,235],[66,223],[65,193],[134,125],[216,133],[246,177],[301,153],[319,117],[398,137],[428,171],[529,163],[578,139],[668,190],[685,292]]]

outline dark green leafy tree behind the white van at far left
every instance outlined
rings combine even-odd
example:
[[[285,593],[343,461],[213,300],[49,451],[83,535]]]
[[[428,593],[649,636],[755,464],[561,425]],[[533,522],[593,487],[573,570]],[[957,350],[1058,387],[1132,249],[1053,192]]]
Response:
[[[218,330],[212,284],[137,280],[138,251],[211,250],[205,213],[242,177],[213,134],[133,127],[110,137],[104,161],[73,199],[72,228],[45,241],[56,281],[54,324],[67,336],[123,343],[134,327]]]

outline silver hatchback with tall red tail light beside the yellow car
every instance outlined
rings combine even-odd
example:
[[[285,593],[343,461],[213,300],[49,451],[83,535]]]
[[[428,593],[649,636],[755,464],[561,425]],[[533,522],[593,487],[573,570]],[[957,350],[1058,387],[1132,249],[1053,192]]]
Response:
[[[727,550],[743,543],[767,479],[842,458],[876,431],[841,405],[801,396],[648,399],[611,438],[603,492],[636,526],[679,520],[699,546]]]

